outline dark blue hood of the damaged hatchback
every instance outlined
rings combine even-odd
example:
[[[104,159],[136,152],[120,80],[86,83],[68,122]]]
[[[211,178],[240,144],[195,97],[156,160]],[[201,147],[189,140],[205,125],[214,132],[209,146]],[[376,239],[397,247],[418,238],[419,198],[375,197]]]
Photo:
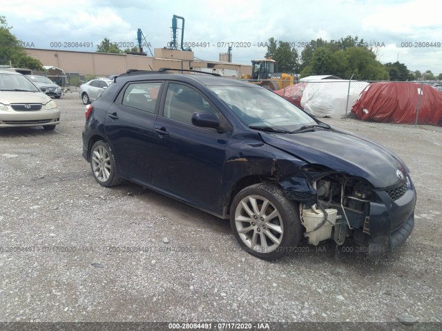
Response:
[[[408,169],[403,161],[386,148],[349,132],[329,129],[296,134],[260,132],[269,145],[293,154],[311,164],[367,179],[375,188],[387,188],[404,180]]]

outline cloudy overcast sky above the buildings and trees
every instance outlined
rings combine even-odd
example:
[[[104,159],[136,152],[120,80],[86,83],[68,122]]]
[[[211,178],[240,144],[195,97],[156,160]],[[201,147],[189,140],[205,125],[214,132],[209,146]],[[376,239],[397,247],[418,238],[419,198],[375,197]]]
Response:
[[[442,72],[440,1],[2,2],[0,15],[13,26],[12,33],[35,48],[54,48],[51,45],[57,42],[59,50],[95,51],[105,37],[120,45],[136,45],[137,28],[141,28],[153,51],[171,41],[176,14],[185,19],[185,42],[206,43],[206,47],[193,48],[195,57],[204,60],[218,61],[218,54],[227,52],[228,42],[240,46],[233,48],[233,62],[250,64],[251,59],[264,57],[267,48],[260,46],[270,37],[302,46],[311,39],[340,39],[350,34],[381,45],[378,60],[382,63],[398,60],[409,70]],[[93,43],[93,48],[65,47],[69,42]]]

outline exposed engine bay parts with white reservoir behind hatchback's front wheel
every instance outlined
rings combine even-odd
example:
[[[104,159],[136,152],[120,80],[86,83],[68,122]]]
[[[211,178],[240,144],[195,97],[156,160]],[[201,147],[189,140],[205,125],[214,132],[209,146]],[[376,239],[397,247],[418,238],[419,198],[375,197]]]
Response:
[[[300,204],[300,218],[309,243],[332,238],[338,245],[355,229],[369,235],[371,186],[361,179],[343,174],[327,174],[312,183],[316,203]]]

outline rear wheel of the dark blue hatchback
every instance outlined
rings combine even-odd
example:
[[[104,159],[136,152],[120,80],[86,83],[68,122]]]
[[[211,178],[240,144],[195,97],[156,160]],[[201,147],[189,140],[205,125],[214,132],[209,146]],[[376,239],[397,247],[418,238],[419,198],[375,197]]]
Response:
[[[90,149],[90,168],[99,185],[109,187],[122,181],[115,172],[115,159],[111,148],[102,140],[94,143]]]

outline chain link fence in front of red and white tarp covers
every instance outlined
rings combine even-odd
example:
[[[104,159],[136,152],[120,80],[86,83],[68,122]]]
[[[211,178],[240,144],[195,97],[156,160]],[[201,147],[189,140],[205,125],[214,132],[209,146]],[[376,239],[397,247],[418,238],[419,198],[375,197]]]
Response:
[[[250,80],[249,80],[250,81]],[[442,83],[435,81],[349,81],[322,79],[251,81],[314,117],[442,126]]]

